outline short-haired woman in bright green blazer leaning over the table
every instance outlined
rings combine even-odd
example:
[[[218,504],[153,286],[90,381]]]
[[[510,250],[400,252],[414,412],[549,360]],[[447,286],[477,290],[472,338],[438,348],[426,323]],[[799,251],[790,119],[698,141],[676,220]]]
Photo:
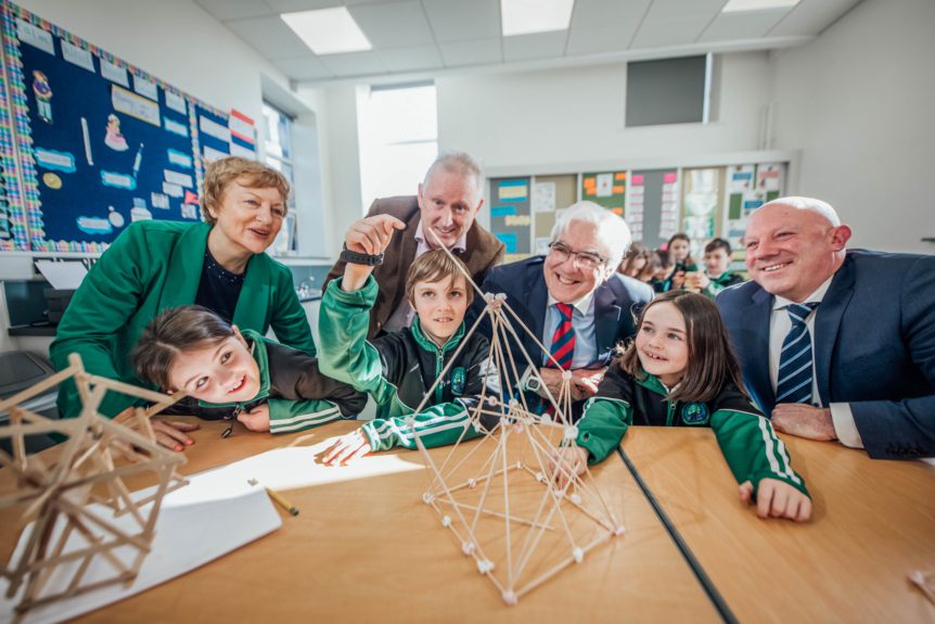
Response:
[[[316,355],[308,320],[289,268],[265,252],[285,216],[289,182],[258,162],[228,157],[208,166],[202,193],[205,222],[131,224],[91,268],[75,292],[49,349],[57,370],[80,354],[93,374],[143,385],[130,353],[143,328],[162,310],[200,304],[241,329]],[[135,399],[111,392],[101,413],[114,417]],[[80,412],[71,381],[59,391],[62,418]],[[157,440],[181,450],[196,425],[154,422]]]

